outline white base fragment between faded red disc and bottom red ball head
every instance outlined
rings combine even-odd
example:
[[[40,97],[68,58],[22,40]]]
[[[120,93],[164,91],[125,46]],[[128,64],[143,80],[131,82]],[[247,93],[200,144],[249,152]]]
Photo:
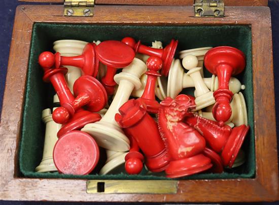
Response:
[[[128,152],[119,152],[119,155],[115,156],[113,159],[109,160],[100,170],[100,175],[106,174],[120,174],[125,171],[125,156]]]

